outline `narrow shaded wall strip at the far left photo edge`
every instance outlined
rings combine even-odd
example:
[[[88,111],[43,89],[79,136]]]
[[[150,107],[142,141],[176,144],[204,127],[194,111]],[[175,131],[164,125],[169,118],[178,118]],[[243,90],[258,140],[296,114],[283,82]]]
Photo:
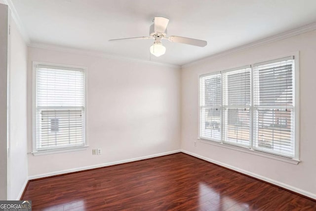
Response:
[[[0,4],[0,200],[7,199],[8,7]]]

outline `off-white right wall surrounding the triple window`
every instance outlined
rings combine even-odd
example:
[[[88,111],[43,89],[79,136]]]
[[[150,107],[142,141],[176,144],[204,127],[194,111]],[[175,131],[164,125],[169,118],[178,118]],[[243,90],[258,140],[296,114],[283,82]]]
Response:
[[[298,165],[200,142],[198,138],[198,75],[236,68],[300,51],[300,160]],[[182,68],[181,148],[226,166],[267,178],[316,198],[316,31],[248,48]],[[194,146],[197,141],[197,146]]]

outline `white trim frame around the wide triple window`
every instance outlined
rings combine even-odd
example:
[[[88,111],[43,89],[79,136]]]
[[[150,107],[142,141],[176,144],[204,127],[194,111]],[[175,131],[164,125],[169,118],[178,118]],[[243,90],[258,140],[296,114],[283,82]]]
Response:
[[[234,149],[234,150],[238,150],[238,151],[242,151],[242,152],[246,152],[246,153],[250,153],[250,154],[254,154],[254,155],[258,155],[258,156],[262,156],[262,157],[267,157],[267,158],[272,158],[272,159],[276,159],[279,161],[284,161],[287,163],[291,163],[291,164],[298,164],[300,162],[300,154],[299,154],[299,148],[300,148],[300,104],[299,104],[299,94],[300,94],[300,90],[299,90],[299,51],[296,52],[291,52],[291,53],[287,53],[287,54],[283,54],[283,55],[279,55],[279,56],[274,56],[274,57],[270,57],[267,59],[261,59],[261,60],[257,60],[254,62],[251,62],[251,71],[254,67],[254,64],[259,64],[259,63],[265,63],[265,62],[273,62],[273,61],[277,61],[279,59],[283,59],[286,57],[291,57],[294,56],[294,73],[293,73],[293,86],[294,86],[294,93],[293,93],[293,98],[294,98],[294,102],[293,102],[293,106],[294,106],[294,121],[295,121],[295,125],[294,125],[294,157],[290,158],[290,157],[286,157],[286,156],[282,156],[282,155],[277,155],[277,154],[271,154],[268,152],[262,152],[259,150],[254,150],[252,149],[252,130],[253,130],[253,112],[251,112],[251,125],[250,125],[250,133],[251,133],[251,147],[247,148],[247,147],[241,147],[241,146],[236,146],[234,144],[227,144],[227,143],[223,143],[218,142],[218,141],[214,141],[211,139],[206,139],[200,136],[200,87],[199,87],[199,80],[200,77],[202,76],[207,76],[207,75],[212,75],[212,74],[218,74],[218,73],[223,73],[225,71],[229,71],[229,70],[236,70],[238,68],[242,68],[242,67],[246,67],[249,66],[248,64],[242,64],[239,66],[235,66],[235,67],[230,67],[230,68],[225,68],[222,69],[221,71],[208,71],[207,73],[201,73],[197,75],[197,82],[198,82],[198,89],[197,89],[197,96],[198,96],[198,138],[197,140],[199,140],[199,142],[203,142],[203,143],[208,143],[208,144],[212,144],[212,145],[216,145],[216,146],[221,146],[224,148],[229,148],[229,149]],[[236,68],[237,67],[237,68]],[[251,72],[251,102],[253,102],[253,73]],[[251,104],[251,107],[253,107],[253,103]],[[223,121],[222,121],[223,122]]]

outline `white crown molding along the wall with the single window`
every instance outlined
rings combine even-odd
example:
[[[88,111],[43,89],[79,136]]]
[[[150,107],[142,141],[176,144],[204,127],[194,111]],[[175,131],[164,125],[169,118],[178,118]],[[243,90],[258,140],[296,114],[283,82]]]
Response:
[[[62,46],[57,46],[57,45],[50,45],[50,44],[43,44],[43,43],[36,43],[36,42],[29,43],[28,47],[40,48],[40,49],[45,49],[45,50],[61,51],[61,52],[65,52],[65,53],[75,53],[75,54],[86,55],[86,56],[103,57],[103,58],[107,58],[107,59],[125,60],[125,61],[130,61],[130,62],[148,64],[148,65],[156,65],[156,66],[181,69],[180,65],[158,63],[158,62],[146,61],[146,60],[141,60],[141,59],[133,59],[133,58],[122,57],[122,56],[114,56],[114,55],[109,55],[109,54],[106,54],[103,52],[88,51],[88,50],[78,49],[78,48],[62,47]]]

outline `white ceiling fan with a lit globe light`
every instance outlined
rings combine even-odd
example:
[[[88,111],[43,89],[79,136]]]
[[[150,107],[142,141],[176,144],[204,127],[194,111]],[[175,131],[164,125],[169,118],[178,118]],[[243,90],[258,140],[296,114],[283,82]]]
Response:
[[[120,40],[129,40],[129,39],[155,39],[154,44],[150,47],[150,52],[155,56],[161,56],[166,52],[166,48],[162,45],[161,39],[167,39],[170,42],[178,42],[189,45],[196,45],[199,47],[204,47],[207,42],[200,39],[192,39],[182,36],[167,36],[167,26],[169,19],[164,17],[155,17],[152,24],[149,28],[150,36],[138,36],[130,38],[121,38],[121,39],[110,39],[109,41],[120,41]]]

